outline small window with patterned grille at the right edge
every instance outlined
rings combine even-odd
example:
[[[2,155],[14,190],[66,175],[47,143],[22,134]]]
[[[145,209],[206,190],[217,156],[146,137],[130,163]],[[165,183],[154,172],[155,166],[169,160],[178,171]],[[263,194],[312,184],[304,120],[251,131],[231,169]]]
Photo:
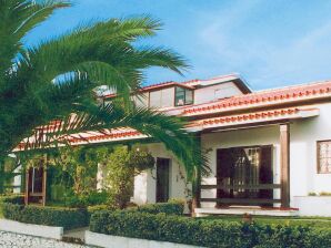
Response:
[[[318,142],[318,173],[331,173],[331,141]]]

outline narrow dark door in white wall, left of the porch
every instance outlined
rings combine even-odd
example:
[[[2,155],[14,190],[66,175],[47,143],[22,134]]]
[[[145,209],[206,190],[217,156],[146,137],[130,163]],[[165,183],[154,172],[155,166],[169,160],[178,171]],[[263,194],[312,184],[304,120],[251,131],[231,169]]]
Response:
[[[157,159],[157,203],[167,203],[169,199],[170,159]]]

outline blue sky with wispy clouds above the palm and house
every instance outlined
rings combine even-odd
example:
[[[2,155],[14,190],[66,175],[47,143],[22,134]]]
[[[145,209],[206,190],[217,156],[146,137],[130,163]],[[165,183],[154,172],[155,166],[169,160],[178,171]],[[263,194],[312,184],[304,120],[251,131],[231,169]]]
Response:
[[[74,0],[26,40],[37,44],[96,19],[151,14],[163,30],[147,44],[189,60],[184,78],[160,69],[146,84],[240,73],[253,90],[331,80],[331,1]]]

